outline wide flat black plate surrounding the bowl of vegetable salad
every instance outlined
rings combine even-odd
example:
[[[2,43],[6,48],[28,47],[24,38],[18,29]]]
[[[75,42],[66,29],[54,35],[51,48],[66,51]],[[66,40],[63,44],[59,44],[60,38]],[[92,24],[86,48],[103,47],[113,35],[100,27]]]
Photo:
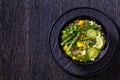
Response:
[[[69,20],[77,17],[89,16],[98,20],[103,26],[107,47],[104,56],[92,64],[79,64],[66,58],[59,45],[59,32]],[[116,24],[104,13],[93,8],[75,8],[63,13],[53,23],[49,34],[49,48],[60,66],[68,73],[76,76],[90,76],[105,70],[115,59],[119,51],[119,33]]]

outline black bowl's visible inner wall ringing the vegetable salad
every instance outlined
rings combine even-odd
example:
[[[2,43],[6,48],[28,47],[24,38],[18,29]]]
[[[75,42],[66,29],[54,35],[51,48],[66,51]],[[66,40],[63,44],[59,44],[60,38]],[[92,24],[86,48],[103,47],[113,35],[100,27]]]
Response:
[[[106,43],[105,43],[105,46],[104,48],[102,49],[100,55],[98,56],[98,58],[95,60],[95,61],[89,61],[89,62],[79,62],[79,61],[73,61],[72,58],[68,57],[66,54],[65,54],[65,51],[63,50],[63,47],[60,45],[61,43],[61,30],[63,30],[69,23],[72,23],[73,21],[75,20],[90,20],[90,21],[94,21],[96,22],[97,24],[101,25],[102,27],[102,32],[103,32],[103,36],[106,40]],[[97,20],[96,18],[94,17],[91,17],[91,16],[86,16],[86,15],[81,15],[81,16],[77,16],[77,17],[74,17],[72,19],[70,19],[69,21],[67,21],[63,27],[59,30],[59,36],[58,36],[58,44],[59,44],[59,48],[61,49],[61,52],[65,55],[65,57],[67,57],[68,59],[72,60],[73,62],[76,62],[76,63],[79,63],[79,64],[82,64],[82,65],[88,65],[88,64],[93,64],[97,61],[99,61],[106,53],[107,49],[108,49],[108,46],[109,46],[109,41],[108,41],[108,37],[106,36],[106,30],[105,30],[105,27],[104,25],[99,21]]]

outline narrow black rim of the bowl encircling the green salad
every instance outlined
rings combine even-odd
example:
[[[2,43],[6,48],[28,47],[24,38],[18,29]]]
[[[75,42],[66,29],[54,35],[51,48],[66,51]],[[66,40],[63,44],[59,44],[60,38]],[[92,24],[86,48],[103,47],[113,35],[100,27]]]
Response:
[[[80,19],[80,18],[84,18],[84,19]],[[100,50],[100,53],[98,55],[98,57],[94,60],[94,61],[89,61],[89,62],[80,62],[80,61],[74,61],[72,60],[69,56],[67,56],[65,54],[65,51],[62,49],[62,46],[60,45],[60,42],[61,42],[61,30],[63,30],[63,28],[65,28],[66,26],[65,25],[68,25],[69,23],[73,22],[74,20],[90,20],[90,21],[94,21],[95,23],[99,24],[102,28],[102,33],[103,33],[103,37],[106,41],[106,30],[104,28],[104,25],[98,20],[96,19],[95,17],[91,17],[91,16],[88,16],[88,15],[80,15],[80,16],[77,16],[77,17],[73,17],[71,19],[69,19],[68,21],[64,22],[63,26],[61,27],[61,29],[59,30],[59,34],[58,34],[58,45],[59,45],[59,49],[61,50],[61,53],[68,59],[70,59],[72,62],[75,62],[77,64],[81,64],[81,65],[90,65],[90,64],[94,64],[96,63],[97,61],[101,60],[101,58],[103,58],[106,54],[106,50],[108,49],[109,47],[109,41],[106,41],[105,42],[105,45],[104,45],[104,48],[102,50]],[[106,49],[106,50],[105,50]],[[105,52],[103,52],[105,51]],[[100,56],[101,55],[101,56]]]

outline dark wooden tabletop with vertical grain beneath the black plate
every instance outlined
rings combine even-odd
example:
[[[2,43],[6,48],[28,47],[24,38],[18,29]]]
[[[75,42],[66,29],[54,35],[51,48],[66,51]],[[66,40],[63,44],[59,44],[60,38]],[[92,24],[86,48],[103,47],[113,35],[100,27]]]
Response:
[[[120,0],[0,0],[0,80],[120,80],[120,55],[91,77],[67,74],[52,57],[51,25],[76,7],[101,10],[120,28]]]

